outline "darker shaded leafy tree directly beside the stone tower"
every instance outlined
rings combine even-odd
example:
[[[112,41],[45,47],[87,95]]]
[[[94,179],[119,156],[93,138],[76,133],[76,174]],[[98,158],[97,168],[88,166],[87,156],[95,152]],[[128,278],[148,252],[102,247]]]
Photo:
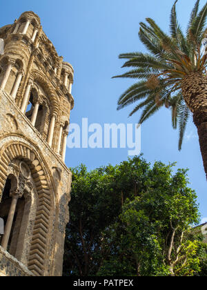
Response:
[[[103,231],[121,213],[127,198],[144,189],[149,164],[140,157],[117,166],[87,172],[86,166],[72,170],[70,224],[66,229],[64,275],[92,276],[97,273],[108,249]]]

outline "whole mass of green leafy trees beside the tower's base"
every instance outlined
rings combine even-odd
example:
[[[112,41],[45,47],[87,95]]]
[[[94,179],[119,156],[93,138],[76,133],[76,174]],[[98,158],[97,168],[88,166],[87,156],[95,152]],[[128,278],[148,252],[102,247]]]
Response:
[[[201,245],[190,235],[199,222],[196,194],[184,169],[172,174],[174,165],[134,157],[72,169],[64,276],[199,273]]]

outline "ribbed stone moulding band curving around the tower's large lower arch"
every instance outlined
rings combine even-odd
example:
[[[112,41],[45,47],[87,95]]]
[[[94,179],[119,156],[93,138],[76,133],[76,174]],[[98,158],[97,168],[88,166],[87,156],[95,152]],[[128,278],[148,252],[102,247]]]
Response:
[[[0,201],[7,179],[8,166],[12,160],[22,158],[30,166],[32,178],[36,185],[39,202],[37,204],[36,219],[32,233],[28,269],[36,276],[43,276],[46,262],[46,244],[48,239],[48,226],[50,221],[51,197],[45,169],[41,166],[39,157],[34,150],[26,144],[19,142],[7,144],[0,151]]]

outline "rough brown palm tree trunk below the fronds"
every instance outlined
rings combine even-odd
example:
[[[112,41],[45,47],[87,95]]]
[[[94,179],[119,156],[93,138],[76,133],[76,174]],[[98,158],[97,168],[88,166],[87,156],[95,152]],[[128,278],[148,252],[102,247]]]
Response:
[[[201,155],[207,179],[207,78],[201,72],[192,72],[182,81],[182,93],[193,113],[197,126]]]

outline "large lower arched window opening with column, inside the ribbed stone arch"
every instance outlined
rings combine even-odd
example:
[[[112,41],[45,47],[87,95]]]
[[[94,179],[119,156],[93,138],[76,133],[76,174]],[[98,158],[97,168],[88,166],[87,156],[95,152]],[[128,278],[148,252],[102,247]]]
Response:
[[[17,260],[26,264],[29,251],[26,247],[29,225],[34,220],[37,197],[32,173],[26,162],[13,160],[8,168],[6,184],[1,195],[0,218],[3,219],[4,233],[1,247]]]

